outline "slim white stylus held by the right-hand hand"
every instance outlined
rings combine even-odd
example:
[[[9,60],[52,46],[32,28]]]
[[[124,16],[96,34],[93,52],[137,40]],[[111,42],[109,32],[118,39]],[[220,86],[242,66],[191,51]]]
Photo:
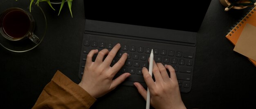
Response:
[[[148,68],[148,72],[151,76],[152,76],[152,70],[153,70],[153,61],[154,61],[154,53],[153,53],[153,49],[152,49],[151,53],[150,53],[150,57],[149,57],[149,68]],[[149,107],[150,107],[150,92],[148,89],[146,109],[149,109]]]

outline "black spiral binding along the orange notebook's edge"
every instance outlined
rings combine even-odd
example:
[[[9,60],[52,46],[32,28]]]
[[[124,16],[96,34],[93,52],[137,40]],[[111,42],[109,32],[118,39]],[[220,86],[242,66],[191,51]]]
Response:
[[[246,21],[254,13],[256,13],[256,9],[252,7],[245,15],[243,15],[243,17],[240,18],[240,20],[238,20],[238,22],[231,26],[227,34],[231,36],[234,33],[234,31],[237,31],[237,29],[239,29],[239,27],[244,23],[244,21]]]

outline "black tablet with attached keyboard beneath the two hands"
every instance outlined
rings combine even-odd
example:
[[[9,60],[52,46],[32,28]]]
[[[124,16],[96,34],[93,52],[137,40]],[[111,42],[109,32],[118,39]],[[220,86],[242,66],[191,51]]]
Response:
[[[124,52],[128,53],[125,65],[114,77],[129,72],[131,76],[122,85],[134,87],[133,83],[139,82],[144,88],[147,87],[141,69],[148,68],[148,57],[153,49],[156,62],[172,65],[175,69],[180,92],[190,92],[198,30],[210,2],[204,0],[202,5],[197,0],[171,3],[84,1],[85,29],[79,79],[83,76],[86,56],[90,50],[111,50],[115,44],[120,43],[121,48],[111,65]]]

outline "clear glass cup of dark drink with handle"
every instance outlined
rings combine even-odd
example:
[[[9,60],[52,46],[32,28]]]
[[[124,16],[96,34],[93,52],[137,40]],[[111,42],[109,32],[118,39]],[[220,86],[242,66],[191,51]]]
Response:
[[[35,20],[31,13],[23,9],[12,7],[0,15],[0,33],[10,41],[29,38],[35,44],[40,39],[34,35]]]

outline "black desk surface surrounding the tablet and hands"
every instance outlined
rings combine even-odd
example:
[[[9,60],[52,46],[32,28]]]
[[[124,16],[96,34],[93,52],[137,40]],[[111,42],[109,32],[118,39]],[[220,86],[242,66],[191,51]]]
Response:
[[[60,16],[46,3],[43,7],[48,30],[35,49],[16,53],[0,47],[0,108],[30,109],[56,70],[79,83],[78,70],[85,23],[83,0],[72,2],[73,18],[67,4]],[[55,6],[58,7],[58,6]],[[256,67],[233,51],[225,38],[246,9],[224,11],[212,0],[198,35],[192,89],[182,93],[187,108],[252,107],[256,98]],[[119,86],[92,106],[94,109],[144,109],[146,102],[135,87]]]

